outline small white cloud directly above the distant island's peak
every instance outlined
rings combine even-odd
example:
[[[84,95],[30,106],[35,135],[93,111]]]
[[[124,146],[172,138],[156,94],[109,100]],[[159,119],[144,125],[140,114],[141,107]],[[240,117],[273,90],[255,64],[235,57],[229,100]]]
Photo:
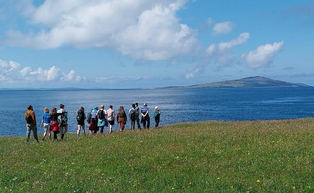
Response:
[[[257,68],[272,62],[276,53],[279,52],[283,47],[283,41],[274,42],[273,44],[265,44],[258,46],[256,50],[250,51],[242,55],[242,58],[250,68]]]

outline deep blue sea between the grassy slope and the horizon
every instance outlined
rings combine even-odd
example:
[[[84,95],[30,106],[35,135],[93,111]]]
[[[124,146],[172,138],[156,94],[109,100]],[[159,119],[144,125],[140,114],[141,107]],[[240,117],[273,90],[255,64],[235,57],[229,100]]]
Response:
[[[258,88],[192,88],[192,89],[130,89],[130,90],[10,90],[0,91],[0,136],[26,135],[24,113],[32,104],[38,133],[43,108],[68,110],[69,131],[76,131],[76,114],[94,106],[109,105],[117,111],[133,103],[147,103],[151,125],[153,109],[162,112],[160,125],[200,120],[262,120],[314,116],[314,87]],[[127,128],[130,122],[127,123]],[[117,129],[118,125],[114,126]]]

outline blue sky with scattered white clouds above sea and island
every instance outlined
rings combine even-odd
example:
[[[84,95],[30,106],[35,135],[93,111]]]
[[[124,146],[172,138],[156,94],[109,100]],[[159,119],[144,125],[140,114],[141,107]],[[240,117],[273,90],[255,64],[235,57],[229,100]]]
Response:
[[[314,85],[313,0],[0,0],[0,88]]]

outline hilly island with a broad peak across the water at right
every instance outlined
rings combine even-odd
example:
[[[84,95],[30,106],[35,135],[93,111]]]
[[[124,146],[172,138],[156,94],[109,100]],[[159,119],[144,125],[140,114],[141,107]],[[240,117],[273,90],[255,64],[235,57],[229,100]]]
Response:
[[[214,83],[195,84],[188,86],[168,86],[165,88],[214,88],[214,87],[275,87],[275,86],[310,86],[303,83],[288,83],[265,77],[247,77]]]

